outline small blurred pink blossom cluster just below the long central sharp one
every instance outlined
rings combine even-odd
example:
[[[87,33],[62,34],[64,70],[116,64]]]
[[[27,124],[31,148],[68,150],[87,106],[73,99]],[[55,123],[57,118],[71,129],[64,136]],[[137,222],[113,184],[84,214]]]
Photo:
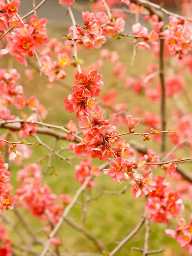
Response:
[[[101,170],[98,166],[92,167],[91,158],[83,158],[79,165],[75,166],[76,169],[76,180],[79,181],[80,184],[83,184],[88,176],[99,177],[101,175]],[[95,186],[95,182],[90,180],[87,185],[87,188]]]

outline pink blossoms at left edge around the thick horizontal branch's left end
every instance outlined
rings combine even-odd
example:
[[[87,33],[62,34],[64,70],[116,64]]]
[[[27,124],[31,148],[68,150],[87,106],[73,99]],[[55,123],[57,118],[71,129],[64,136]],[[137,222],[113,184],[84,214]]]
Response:
[[[36,96],[31,96],[28,100],[23,95],[24,90],[23,86],[17,83],[17,80],[20,79],[20,74],[17,73],[16,69],[10,69],[9,72],[6,69],[0,69],[0,90],[1,90],[1,99],[0,99],[0,119],[2,120],[17,120],[19,119],[15,115],[11,115],[11,110],[7,107],[9,105],[15,105],[15,107],[20,110],[25,106],[28,106],[31,111],[38,111],[40,117],[45,119],[47,116],[46,108],[39,104]],[[36,132],[34,121],[38,121],[38,116],[32,114],[28,116],[23,113],[24,118],[27,123],[23,123],[20,127],[19,137],[24,139],[26,136],[30,136],[31,132]],[[19,156],[16,149],[16,145],[10,148],[12,156],[10,160],[15,159]]]

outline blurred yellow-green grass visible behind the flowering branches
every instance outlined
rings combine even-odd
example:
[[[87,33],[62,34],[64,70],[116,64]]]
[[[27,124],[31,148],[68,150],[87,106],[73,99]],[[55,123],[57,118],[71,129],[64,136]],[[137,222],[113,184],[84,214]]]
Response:
[[[57,36],[62,37],[59,29],[49,29],[49,36]],[[137,75],[146,72],[146,67],[148,63],[151,61],[151,53],[150,52],[139,52],[137,51],[137,56],[135,58],[134,67],[131,68],[131,56],[132,56],[132,44],[129,44],[131,41],[128,41],[126,38],[123,38],[123,41],[112,41],[111,43],[107,43],[105,47],[110,48],[111,50],[116,50],[120,55],[120,61],[123,61],[127,65],[127,75],[132,76],[133,70]],[[87,64],[96,61],[99,58],[98,50],[90,50],[90,51],[79,51],[79,57],[84,59],[84,66]],[[5,59],[5,58],[3,58]],[[157,62],[157,60],[156,60]],[[15,61],[13,63],[10,59],[6,59],[5,62],[1,62],[1,67],[6,67],[7,64],[13,65],[14,68],[17,68],[18,72],[23,74],[23,66],[17,64]],[[145,99],[145,96],[136,96],[131,90],[125,90],[123,81],[118,81],[111,76],[111,68],[112,64],[108,64],[107,62],[104,65],[102,70],[99,70],[99,73],[103,74],[104,87],[102,89],[102,93],[104,94],[110,88],[116,87],[118,90],[118,102],[126,102],[128,103],[128,110],[133,111],[135,106],[140,106],[142,109],[155,111],[159,113],[160,105],[159,104],[149,104]],[[66,78],[66,83],[73,85],[73,72],[68,72],[68,76]],[[134,74],[134,77],[136,75]],[[35,81],[28,81],[25,76],[22,76],[20,80],[20,84],[24,85],[26,98],[31,95],[36,95],[41,102],[41,104],[45,105],[49,111],[49,115],[45,122],[56,124],[56,125],[65,125],[70,119],[75,119],[74,114],[68,114],[64,110],[64,99],[68,95],[69,91],[64,87],[54,83],[53,89],[49,90],[46,87],[46,83],[48,80],[45,77],[40,77],[39,73],[35,75]],[[169,100],[167,112],[168,116],[170,116],[172,107],[175,107],[174,103]],[[24,110],[25,111],[25,110]],[[13,112],[14,113],[14,112]],[[17,113],[17,112],[15,112]],[[170,118],[168,118],[168,126],[171,125]],[[125,127],[119,127],[119,131],[125,131]],[[138,131],[145,131],[145,127],[140,126]],[[41,139],[47,143],[47,145],[51,146],[54,143],[54,138],[50,138],[48,136],[40,136]],[[135,137],[125,137],[128,141],[131,139],[137,139]],[[141,138],[138,138],[140,142],[142,142]],[[27,141],[34,141],[32,138],[27,138]],[[66,145],[66,141],[62,141],[58,144],[57,148],[61,145]],[[172,145],[167,143],[168,149],[172,148]],[[159,145],[155,144],[151,138],[149,142],[145,142],[145,145],[148,147],[154,148],[156,152],[159,151]],[[30,163],[33,160],[38,159],[39,157],[47,154],[47,150],[43,147],[36,148],[34,150],[34,154],[32,156],[32,160],[26,161],[26,163]],[[186,151],[183,151],[183,154],[187,154]],[[64,156],[72,155],[70,152],[65,152]],[[73,160],[73,164],[78,164],[79,159]],[[93,161],[94,164],[99,165],[100,161]],[[47,166],[47,160],[45,160],[44,164],[41,164],[42,169],[44,170]],[[52,166],[56,169],[58,176],[50,175],[48,172],[45,177],[45,182],[52,187],[52,192],[55,194],[59,193],[69,193],[72,197],[79,188],[79,183],[74,178],[74,167],[69,166],[63,160],[58,159],[58,157],[52,157]],[[16,172],[19,169],[18,166],[12,165],[12,184],[14,189],[17,188],[17,184],[15,182]],[[160,173],[160,171],[157,171]],[[109,177],[105,175],[101,175],[96,180],[97,186],[104,190],[118,191],[122,189],[122,187],[126,184],[125,182],[122,185],[116,183],[111,180]],[[85,197],[87,192],[84,192],[83,197]],[[92,189],[92,195],[97,195],[99,193],[98,189]],[[79,198],[79,201],[82,200],[82,197]],[[109,251],[113,250],[116,247],[118,241],[121,241],[140,221],[141,216],[144,212],[144,198],[134,199],[131,194],[131,189],[120,196],[117,195],[103,195],[97,201],[93,201],[90,203],[87,210],[87,218],[85,227],[93,232],[93,234],[107,247]],[[15,219],[13,212],[9,210],[6,212],[12,219]],[[189,216],[189,212],[187,210],[186,215]],[[81,223],[81,205],[76,205],[69,216],[77,221],[79,224]],[[42,224],[33,218],[33,216],[27,212],[23,211],[23,218],[25,218],[29,224],[31,225],[34,232],[38,231]],[[172,220],[168,225],[165,224],[154,224],[151,223],[151,237],[150,237],[150,249],[160,249],[169,247],[166,252],[161,253],[162,256],[187,256],[184,250],[179,248],[179,245],[174,239],[170,239],[165,236],[164,229],[165,228],[175,228],[176,221]],[[22,230],[21,225],[19,228]],[[10,229],[11,230],[11,229]],[[128,242],[118,253],[118,256],[139,256],[140,252],[136,252],[131,250],[132,246],[135,247],[143,247],[144,243],[144,228],[134,236],[131,241]],[[69,227],[64,223],[60,230],[60,234],[62,236],[62,240],[64,242],[64,247],[67,247],[72,252],[77,251],[97,251],[96,247],[85,238],[82,234],[78,233],[76,230]],[[19,242],[19,238],[15,236],[15,233],[10,232],[10,238],[13,241]],[[27,237],[27,235],[26,235]],[[43,236],[46,238],[45,236]],[[39,248],[40,249],[40,248]],[[176,252],[176,253],[175,253]],[[172,254],[173,253],[173,254]],[[175,254],[174,254],[175,253]]]

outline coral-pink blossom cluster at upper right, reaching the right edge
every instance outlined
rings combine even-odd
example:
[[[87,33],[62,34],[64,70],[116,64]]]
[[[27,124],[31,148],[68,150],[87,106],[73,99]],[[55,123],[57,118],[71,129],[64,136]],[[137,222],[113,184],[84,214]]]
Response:
[[[171,55],[187,54],[191,49],[191,27],[184,26],[185,20],[178,19],[175,16],[169,16],[169,24],[162,32],[161,29],[164,25],[163,21],[159,22],[157,15],[145,16],[145,20],[150,19],[154,30],[148,34],[148,29],[140,23],[132,26],[133,34],[140,36],[143,41],[137,43],[138,49],[151,50],[150,42],[153,46],[159,45],[159,38],[164,38]]]

